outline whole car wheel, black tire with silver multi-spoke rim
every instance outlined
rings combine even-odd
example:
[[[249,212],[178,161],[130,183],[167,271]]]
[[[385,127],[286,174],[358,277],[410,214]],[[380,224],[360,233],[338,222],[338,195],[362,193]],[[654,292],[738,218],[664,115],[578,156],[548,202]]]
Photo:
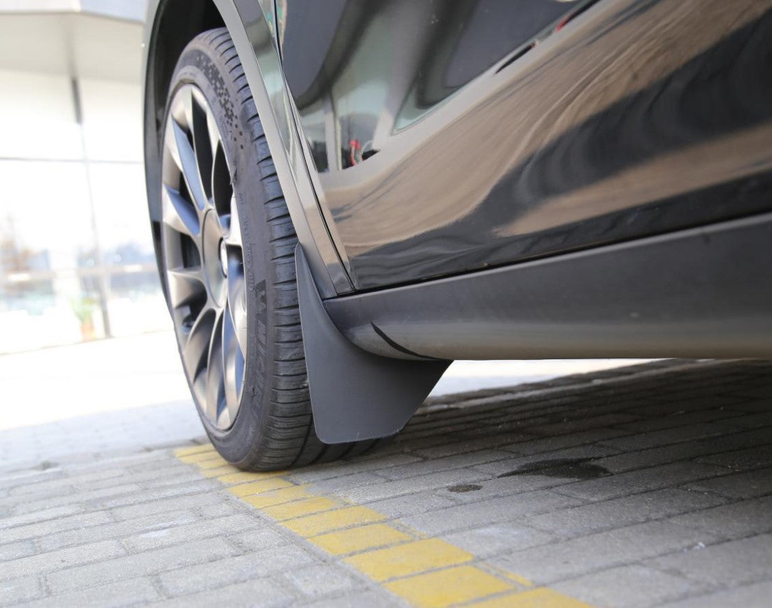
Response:
[[[226,461],[249,471],[371,448],[377,440],[327,445],[314,432],[295,276],[297,238],[225,28],[196,36],[181,53],[162,147],[161,269],[188,384],[212,444]]]

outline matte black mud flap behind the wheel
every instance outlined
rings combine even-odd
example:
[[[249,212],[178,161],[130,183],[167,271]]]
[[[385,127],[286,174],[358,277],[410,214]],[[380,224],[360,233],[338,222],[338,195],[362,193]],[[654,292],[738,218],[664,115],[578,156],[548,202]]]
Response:
[[[391,359],[354,346],[327,316],[300,245],[295,267],[317,436],[337,444],[397,433],[451,362]]]

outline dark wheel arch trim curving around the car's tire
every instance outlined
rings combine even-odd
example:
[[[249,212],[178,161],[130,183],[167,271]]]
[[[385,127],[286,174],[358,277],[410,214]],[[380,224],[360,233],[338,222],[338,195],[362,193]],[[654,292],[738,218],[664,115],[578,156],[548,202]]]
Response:
[[[263,5],[271,11],[266,16]],[[353,290],[323,220],[305,164],[289,94],[273,39],[273,2],[254,0],[150,0],[144,31],[144,161],[147,204],[156,252],[161,242],[161,128],[171,76],[188,42],[201,32],[225,26],[239,53],[276,173],[306,251],[317,287],[325,297]],[[267,85],[267,86],[266,86]],[[159,266],[166,293],[164,273]]]

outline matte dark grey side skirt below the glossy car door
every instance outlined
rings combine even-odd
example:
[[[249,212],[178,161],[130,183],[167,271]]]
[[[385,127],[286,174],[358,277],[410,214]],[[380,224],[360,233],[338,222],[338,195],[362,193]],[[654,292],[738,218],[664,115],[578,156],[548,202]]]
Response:
[[[324,308],[352,343],[384,356],[769,358],[772,213],[341,296]]]

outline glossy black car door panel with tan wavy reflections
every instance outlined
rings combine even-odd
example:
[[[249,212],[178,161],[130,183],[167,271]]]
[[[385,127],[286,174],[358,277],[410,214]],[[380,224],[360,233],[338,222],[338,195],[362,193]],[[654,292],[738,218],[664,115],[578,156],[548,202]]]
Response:
[[[278,0],[356,289],[770,208],[770,2]]]

